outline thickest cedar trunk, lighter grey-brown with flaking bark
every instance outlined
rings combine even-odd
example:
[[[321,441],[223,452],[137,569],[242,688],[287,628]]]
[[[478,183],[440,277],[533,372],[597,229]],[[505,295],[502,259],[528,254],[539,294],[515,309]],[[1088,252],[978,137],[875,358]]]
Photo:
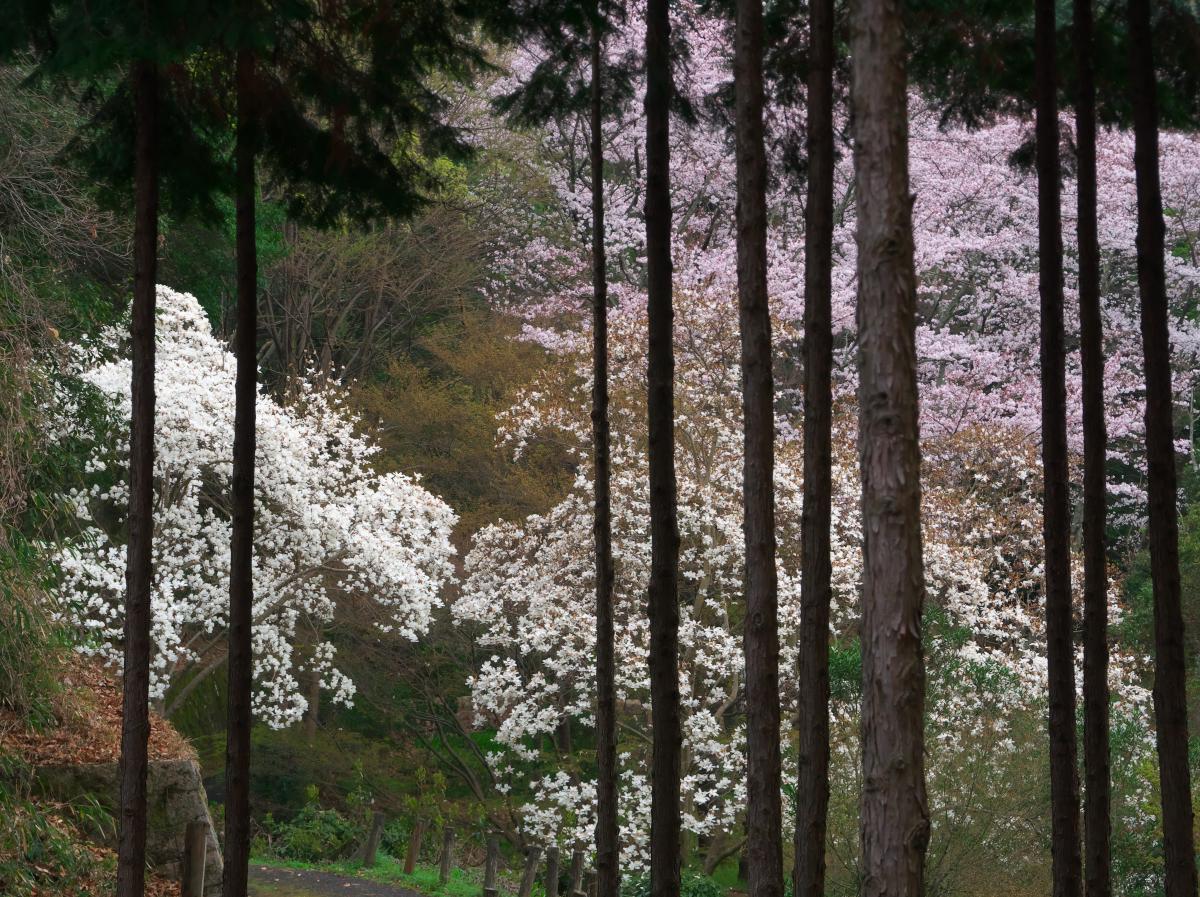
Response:
[[[918,897],[929,809],[917,282],[901,0],[852,5],[863,478],[863,895]]]

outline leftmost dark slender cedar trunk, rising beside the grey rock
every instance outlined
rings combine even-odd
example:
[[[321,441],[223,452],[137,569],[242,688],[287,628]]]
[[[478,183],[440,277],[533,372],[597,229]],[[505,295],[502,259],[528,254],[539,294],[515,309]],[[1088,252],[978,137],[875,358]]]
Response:
[[[158,265],[158,68],[133,66],[137,115],[133,209],[130,544],[125,565],[125,674],[118,897],[142,897],[146,868],[150,741],[150,592],[154,586],[154,313]]]

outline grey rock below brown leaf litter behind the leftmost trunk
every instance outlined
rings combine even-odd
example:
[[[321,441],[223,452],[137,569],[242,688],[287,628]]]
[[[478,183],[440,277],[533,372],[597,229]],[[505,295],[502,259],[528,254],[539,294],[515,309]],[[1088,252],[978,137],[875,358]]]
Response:
[[[119,771],[115,763],[38,766],[35,781],[42,794],[61,802],[96,800],[116,819]],[[200,769],[192,759],[151,760],[146,777],[146,862],[163,875],[178,879],[182,868],[184,832],[194,820],[208,823],[204,893],[221,893],[221,848],[209,814]],[[96,832],[97,841],[116,848],[116,831]]]

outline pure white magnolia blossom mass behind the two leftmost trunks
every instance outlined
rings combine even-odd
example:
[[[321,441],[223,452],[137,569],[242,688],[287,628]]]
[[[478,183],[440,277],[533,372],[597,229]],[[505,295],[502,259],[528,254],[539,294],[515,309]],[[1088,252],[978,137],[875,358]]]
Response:
[[[82,532],[60,554],[62,594],[86,650],[120,662],[125,600],[130,362],[122,331],[83,353],[82,378],[113,403],[91,440],[89,486],[71,498]],[[97,360],[108,356],[108,360]],[[89,363],[90,362],[90,363]],[[158,288],[151,693],[205,675],[224,652],[234,357],[199,302]],[[254,507],[254,712],[275,727],[307,700],[298,673],[349,703],[323,632],[353,603],[383,631],[415,639],[452,576],[454,512],[416,480],[372,468],[376,446],[338,401],[301,387],[283,405],[259,393]],[[364,609],[365,608],[365,609]]]

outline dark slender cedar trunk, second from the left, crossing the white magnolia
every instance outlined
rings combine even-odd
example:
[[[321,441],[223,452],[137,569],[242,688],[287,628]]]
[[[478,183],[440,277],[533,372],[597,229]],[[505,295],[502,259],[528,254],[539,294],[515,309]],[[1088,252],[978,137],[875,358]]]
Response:
[[[246,897],[250,863],[251,612],[254,603],[254,401],[258,259],[254,243],[254,55],[238,50],[236,252],[238,379],[233,425],[233,535],[229,558],[229,714],[226,742],[224,897]]]

